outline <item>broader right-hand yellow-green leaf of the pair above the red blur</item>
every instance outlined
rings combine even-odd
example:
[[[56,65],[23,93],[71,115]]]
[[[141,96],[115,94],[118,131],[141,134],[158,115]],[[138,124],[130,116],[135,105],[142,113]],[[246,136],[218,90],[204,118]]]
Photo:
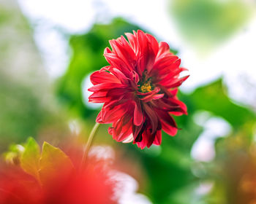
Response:
[[[42,155],[39,160],[39,178],[42,184],[47,183],[61,173],[73,169],[69,157],[61,149],[51,146],[47,142],[42,145]]]

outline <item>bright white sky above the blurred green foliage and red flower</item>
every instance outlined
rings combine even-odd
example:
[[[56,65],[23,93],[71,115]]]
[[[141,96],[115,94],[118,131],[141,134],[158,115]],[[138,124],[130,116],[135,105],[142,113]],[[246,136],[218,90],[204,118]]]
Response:
[[[182,66],[189,68],[191,75],[181,86],[182,90],[192,91],[198,85],[223,75],[232,98],[247,103],[254,103],[256,99],[255,89],[245,90],[240,80],[241,75],[246,74],[251,82],[256,82],[256,17],[236,36],[202,58],[179,37],[166,12],[168,5],[165,0],[18,1],[25,15],[35,25],[34,38],[45,59],[47,71],[53,78],[64,73],[69,60],[67,39],[57,28],[69,34],[84,33],[95,21],[108,23],[111,17],[122,16],[179,50]]]

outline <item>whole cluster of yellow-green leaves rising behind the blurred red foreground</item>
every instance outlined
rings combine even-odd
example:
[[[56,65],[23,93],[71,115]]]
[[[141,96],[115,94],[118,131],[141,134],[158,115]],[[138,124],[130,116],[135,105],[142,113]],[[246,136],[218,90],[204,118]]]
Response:
[[[17,146],[22,151],[17,150]],[[23,145],[10,146],[6,155],[13,153],[19,153],[16,158],[19,162],[15,165],[19,165],[42,185],[49,181],[51,176],[59,175],[61,168],[69,170],[74,168],[72,161],[61,149],[44,142],[41,151],[37,141],[31,137]],[[6,157],[7,162],[9,162],[8,159]]]

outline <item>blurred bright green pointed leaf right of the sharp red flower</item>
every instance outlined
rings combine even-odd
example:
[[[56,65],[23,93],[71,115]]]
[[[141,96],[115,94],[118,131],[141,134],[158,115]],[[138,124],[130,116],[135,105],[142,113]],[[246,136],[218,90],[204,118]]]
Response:
[[[230,101],[222,85],[222,79],[197,88],[189,98],[194,109],[210,111],[230,122],[235,131],[244,130],[248,136],[252,135],[252,126],[256,121],[255,113]]]

